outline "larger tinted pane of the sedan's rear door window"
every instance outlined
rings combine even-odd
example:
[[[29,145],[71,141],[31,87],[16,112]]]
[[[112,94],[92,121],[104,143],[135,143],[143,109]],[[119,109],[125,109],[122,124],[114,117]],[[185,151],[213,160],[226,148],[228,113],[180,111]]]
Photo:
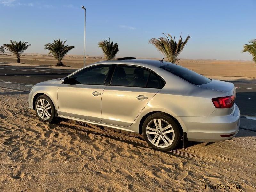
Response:
[[[111,85],[129,86],[129,87],[146,87],[149,71],[136,67],[117,65]]]

